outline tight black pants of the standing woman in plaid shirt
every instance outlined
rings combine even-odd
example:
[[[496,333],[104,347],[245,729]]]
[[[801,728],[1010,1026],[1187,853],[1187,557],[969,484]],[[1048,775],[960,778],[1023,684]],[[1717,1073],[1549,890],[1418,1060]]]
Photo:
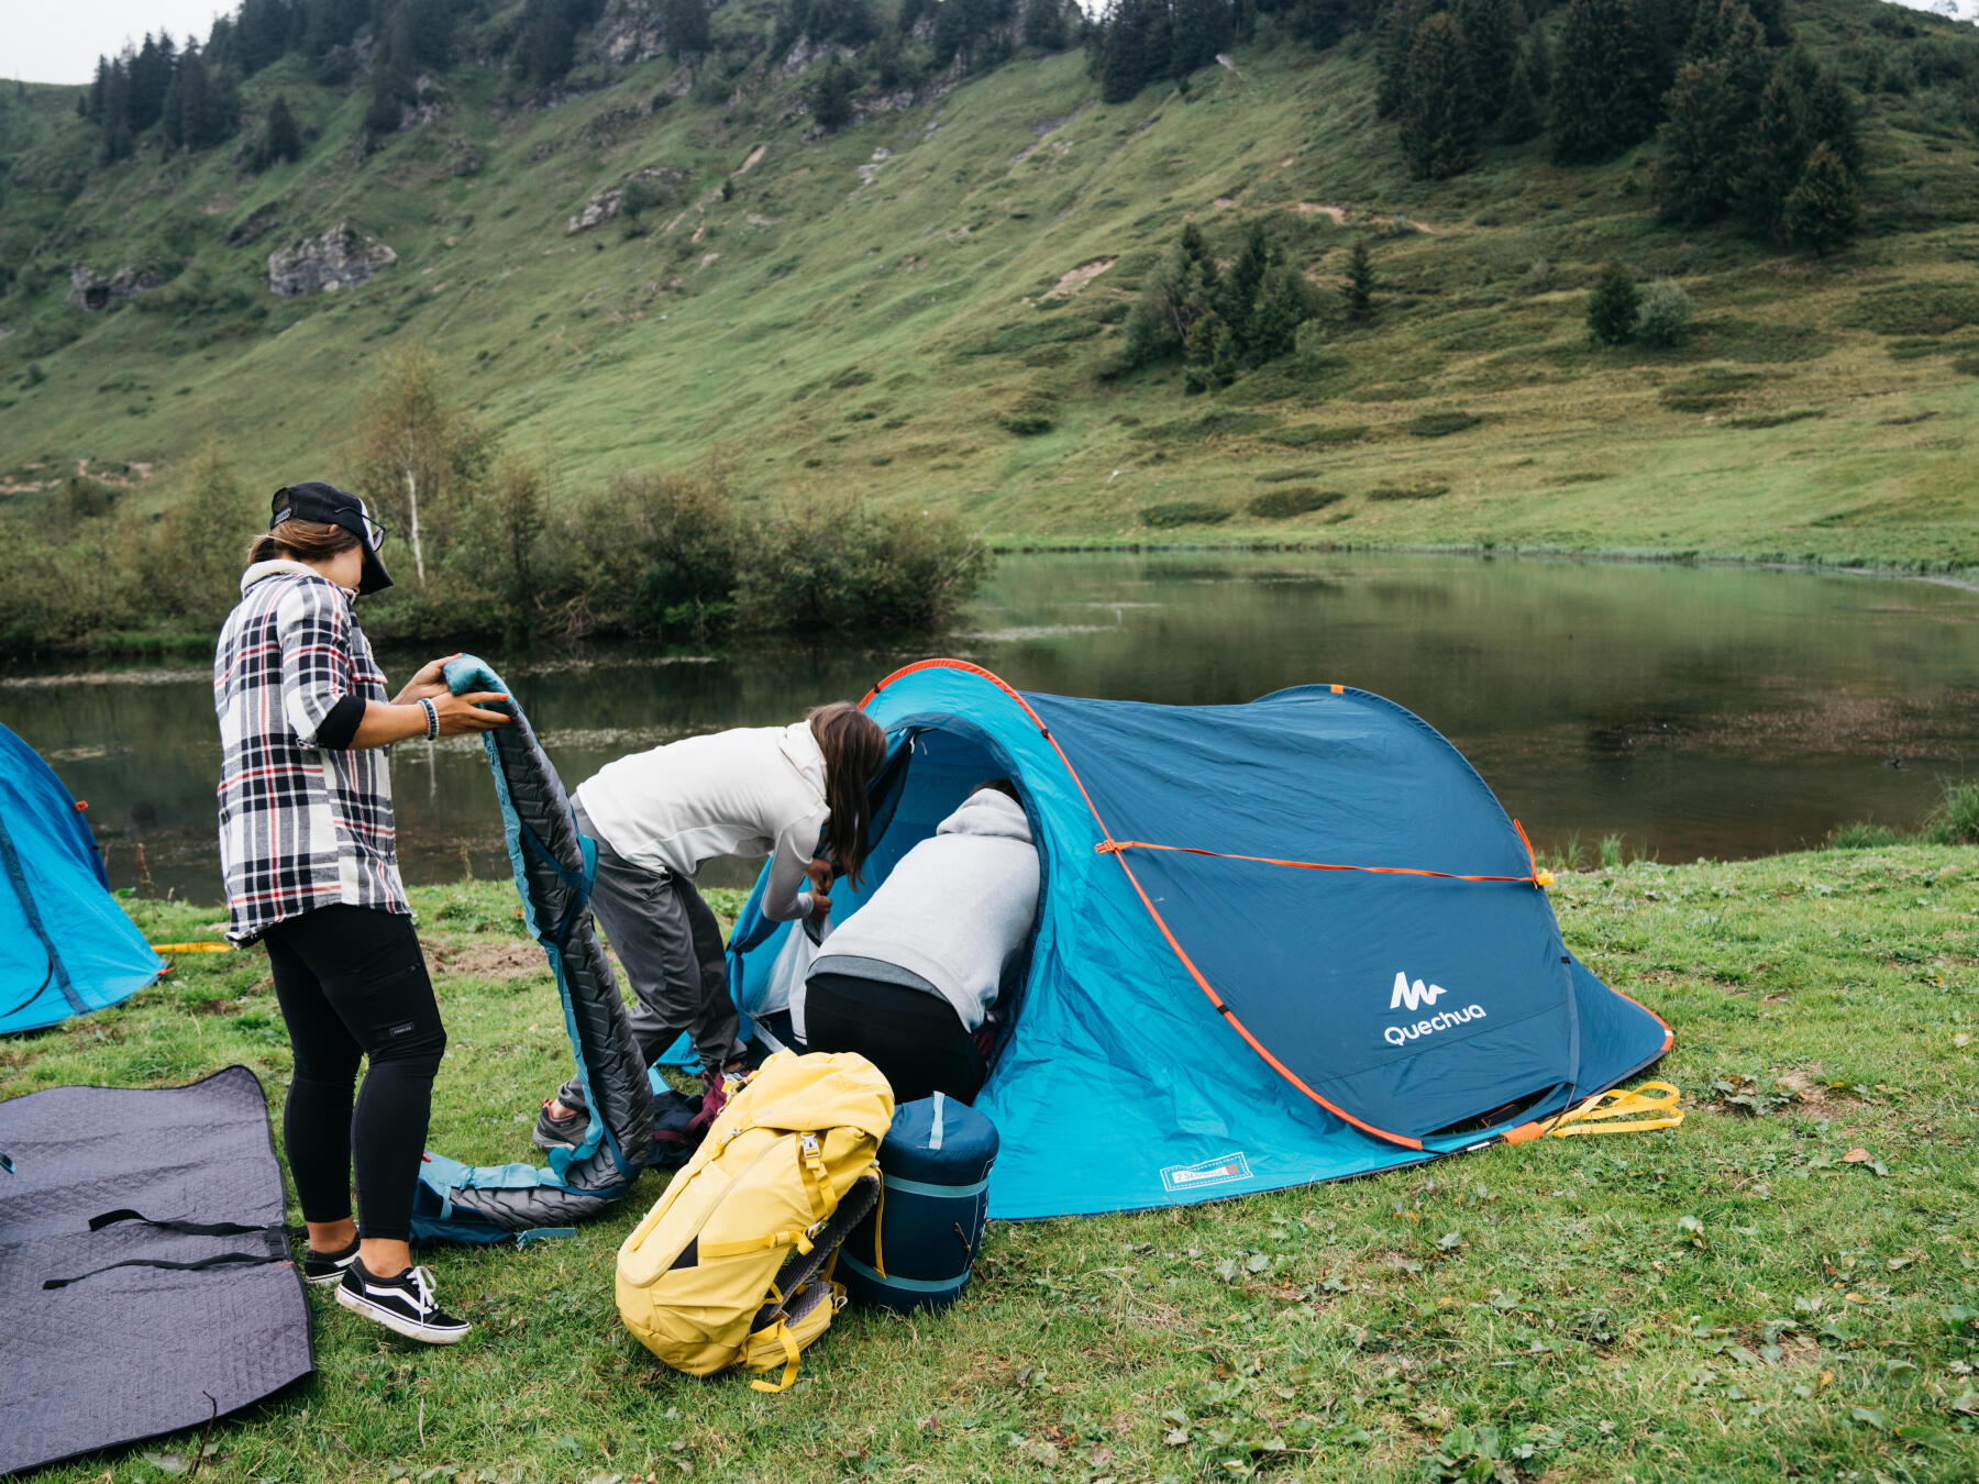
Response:
[[[433,1074],[447,1051],[412,918],[319,906],[277,922],[263,942],[295,1051],[281,1134],[303,1219],[350,1215],[354,1156],[360,1235],[408,1241]],[[362,1057],[370,1070],[352,1102]]]

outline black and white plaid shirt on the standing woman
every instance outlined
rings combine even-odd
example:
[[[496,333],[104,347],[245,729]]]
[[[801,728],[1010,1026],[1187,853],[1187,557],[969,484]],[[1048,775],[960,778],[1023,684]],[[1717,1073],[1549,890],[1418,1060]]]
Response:
[[[317,746],[348,695],[386,700],[350,598],[301,562],[259,562],[220,629],[220,867],[228,938],[346,902],[412,912],[384,748]]]

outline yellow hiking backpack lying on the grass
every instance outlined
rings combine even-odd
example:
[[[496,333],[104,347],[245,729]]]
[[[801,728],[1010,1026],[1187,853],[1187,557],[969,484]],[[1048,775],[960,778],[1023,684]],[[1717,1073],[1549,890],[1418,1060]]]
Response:
[[[780,1051],[732,1096],[617,1260],[625,1328],[667,1365],[784,1367],[845,1302],[839,1243],[879,1199],[893,1088],[865,1057]]]

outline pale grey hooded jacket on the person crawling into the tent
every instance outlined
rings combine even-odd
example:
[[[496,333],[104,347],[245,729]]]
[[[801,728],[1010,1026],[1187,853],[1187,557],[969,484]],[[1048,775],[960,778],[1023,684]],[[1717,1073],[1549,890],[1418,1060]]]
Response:
[[[1031,936],[1037,884],[1023,805],[978,789],[825,938],[811,974],[877,977],[875,962],[896,966],[924,979],[974,1031]]]

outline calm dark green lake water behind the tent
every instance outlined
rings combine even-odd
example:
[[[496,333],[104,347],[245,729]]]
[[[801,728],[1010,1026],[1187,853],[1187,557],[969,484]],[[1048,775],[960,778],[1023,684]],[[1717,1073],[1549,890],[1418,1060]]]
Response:
[[[1025,691],[1176,704],[1286,685],[1377,691],[1476,764],[1544,851],[1615,833],[1662,861],[1912,827],[1979,768],[1979,594],[1738,568],[1383,554],[1005,558],[940,641],[487,657],[566,784],[639,748],[796,720],[928,653]],[[382,655],[394,685],[422,655]],[[204,665],[0,677],[0,720],[46,756],[111,881],[220,896]],[[392,758],[414,882],[507,875],[481,744]],[[710,865],[705,881],[752,871]]]

